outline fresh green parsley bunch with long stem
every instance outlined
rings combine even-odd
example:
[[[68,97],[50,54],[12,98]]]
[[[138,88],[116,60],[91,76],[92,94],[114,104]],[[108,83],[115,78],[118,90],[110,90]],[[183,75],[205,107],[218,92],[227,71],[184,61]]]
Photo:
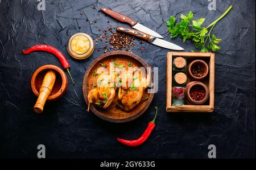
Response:
[[[181,38],[183,38],[183,42],[185,42],[185,40],[192,39],[192,41],[196,45],[196,48],[201,48],[200,52],[208,52],[208,49],[212,49],[212,51],[217,51],[221,48],[217,45],[221,41],[221,39],[218,39],[214,34],[211,34],[212,28],[219,20],[221,20],[226,14],[228,14],[231,9],[232,6],[230,6],[228,10],[226,10],[225,13],[220,16],[220,18],[209,24],[208,27],[201,27],[204,23],[205,18],[192,20],[194,18],[192,11],[189,11],[187,15],[181,14],[180,23],[176,23],[177,19],[175,18],[175,16],[172,15],[170,16],[170,19],[166,22],[168,31],[171,34],[171,38],[175,38],[179,35]]]

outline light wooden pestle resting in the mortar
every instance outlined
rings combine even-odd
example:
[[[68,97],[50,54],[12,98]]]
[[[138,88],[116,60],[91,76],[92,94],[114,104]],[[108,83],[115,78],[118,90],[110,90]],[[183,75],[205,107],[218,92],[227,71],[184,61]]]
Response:
[[[33,110],[36,113],[42,113],[44,109],[44,104],[46,99],[52,91],[53,85],[55,83],[56,74],[53,71],[48,71],[46,76],[44,76],[43,84],[40,88],[38,100],[35,103]]]

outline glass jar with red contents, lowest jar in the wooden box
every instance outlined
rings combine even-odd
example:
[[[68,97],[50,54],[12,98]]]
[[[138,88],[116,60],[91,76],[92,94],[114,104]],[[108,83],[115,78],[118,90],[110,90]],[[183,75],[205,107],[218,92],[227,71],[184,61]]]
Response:
[[[185,98],[185,88],[184,87],[173,87],[172,88],[172,105],[181,106],[184,105]]]

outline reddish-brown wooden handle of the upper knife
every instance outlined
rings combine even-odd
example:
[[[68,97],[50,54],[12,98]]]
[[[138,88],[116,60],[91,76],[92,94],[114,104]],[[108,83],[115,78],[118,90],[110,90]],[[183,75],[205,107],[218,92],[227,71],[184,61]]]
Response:
[[[134,26],[137,24],[137,22],[123,14],[119,14],[115,11],[112,11],[110,9],[106,9],[105,7],[101,8],[101,11],[108,14],[109,16],[112,16],[114,19],[119,20],[119,22],[130,24],[131,26]]]

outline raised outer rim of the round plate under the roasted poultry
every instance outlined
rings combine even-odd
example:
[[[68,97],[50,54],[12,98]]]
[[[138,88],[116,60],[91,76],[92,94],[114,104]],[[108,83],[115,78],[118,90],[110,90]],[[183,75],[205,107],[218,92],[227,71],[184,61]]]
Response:
[[[100,57],[98,57],[97,59],[95,59],[93,61],[92,64],[90,64],[89,68],[86,70],[85,75],[84,75],[84,81],[83,81],[83,85],[82,85],[82,92],[84,94],[84,99],[86,104],[88,105],[88,99],[87,99],[87,77],[89,76],[89,73],[91,71],[91,69],[94,67],[94,65],[96,65],[98,63],[98,61],[105,59],[108,56],[113,56],[113,55],[127,55],[129,57],[132,57],[133,59],[139,61],[139,63],[141,63],[143,65],[143,67],[149,67],[148,64],[146,63],[146,61],[144,61],[143,59],[141,59],[141,57],[135,55],[134,53],[131,52],[126,52],[126,51],[112,51],[112,52],[106,52],[104,54],[102,54]],[[151,74],[152,76],[152,74]],[[154,77],[152,76],[152,79],[154,80]],[[135,113],[134,115],[132,115],[131,117],[127,117],[127,118],[109,118],[106,117],[105,115],[102,115],[93,105],[90,105],[90,110],[97,115],[97,117],[104,119],[105,121],[108,122],[113,122],[113,123],[125,123],[125,122],[130,122],[133,121],[134,119],[137,119],[138,117],[140,117],[150,106],[150,103],[152,102],[154,97],[154,93],[149,93],[148,99],[146,102],[145,107],[143,107],[143,109],[139,110],[137,113]]]

